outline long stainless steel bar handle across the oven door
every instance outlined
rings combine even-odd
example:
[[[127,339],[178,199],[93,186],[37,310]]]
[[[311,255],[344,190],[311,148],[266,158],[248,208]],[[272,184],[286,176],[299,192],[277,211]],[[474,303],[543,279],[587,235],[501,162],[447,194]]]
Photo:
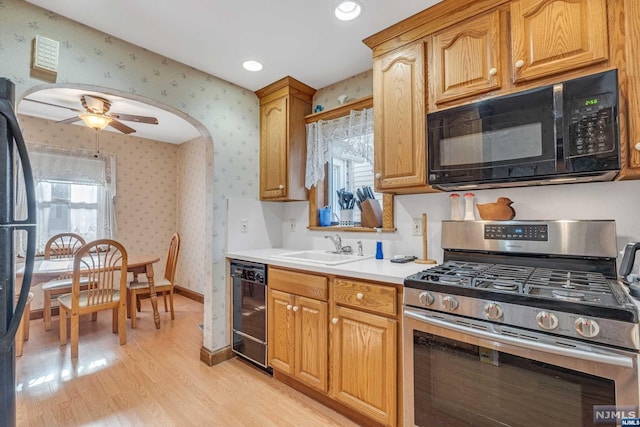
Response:
[[[500,344],[513,345],[524,349],[533,349],[545,353],[552,353],[559,356],[577,357],[582,360],[587,360],[595,363],[605,363],[607,365],[621,366],[623,368],[633,368],[633,359],[630,357],[620,356],[614,353],[592,353],[582,351],[576,348],[565,348],[560,346],[554,346],[550,344],[528,341],[519,338],[513,338],[504,335],[498,335],[492,332],[485,332],[467,326],[462,326],[454,323],[450,323],[446,320],[436,319],[430,316],[424,316],[418,312],[408,310],[405,308],[404,315],[419,322],[427,323],[429,325],[438,326],[440,328],[449,329],[454,332],[460,332],[467,335],[474,336],[476,338],[488,339]]]

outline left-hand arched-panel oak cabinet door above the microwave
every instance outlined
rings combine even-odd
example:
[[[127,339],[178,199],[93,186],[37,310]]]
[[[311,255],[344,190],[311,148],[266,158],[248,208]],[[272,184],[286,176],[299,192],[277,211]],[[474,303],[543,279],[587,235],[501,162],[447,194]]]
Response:
[[[431,52],[429,81],[436,104],[500,89],[500,12],[436,33]]]

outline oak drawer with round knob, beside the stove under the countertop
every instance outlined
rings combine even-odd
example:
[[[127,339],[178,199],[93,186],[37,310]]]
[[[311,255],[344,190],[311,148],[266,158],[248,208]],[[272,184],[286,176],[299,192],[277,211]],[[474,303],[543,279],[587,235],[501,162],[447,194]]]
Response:
[[[354,280],[336,279],[334,283],[335,303],[371,312],[395,316],[396,288]]]

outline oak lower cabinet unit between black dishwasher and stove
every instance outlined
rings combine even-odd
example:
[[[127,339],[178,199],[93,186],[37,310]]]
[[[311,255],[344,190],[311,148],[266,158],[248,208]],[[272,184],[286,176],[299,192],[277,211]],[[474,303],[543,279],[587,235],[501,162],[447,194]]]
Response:
[[[401,400],[396,287],[275,267],[268,274],[274,372],[320,391],[323,403],[354,419],[395,426]]]

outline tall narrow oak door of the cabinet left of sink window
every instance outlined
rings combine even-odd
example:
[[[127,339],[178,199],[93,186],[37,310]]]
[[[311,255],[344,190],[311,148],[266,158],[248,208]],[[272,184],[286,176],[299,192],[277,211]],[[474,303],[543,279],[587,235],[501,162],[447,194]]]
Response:
[[[260,196],[281,199],[287,185],[288,97],[260,107]]]

